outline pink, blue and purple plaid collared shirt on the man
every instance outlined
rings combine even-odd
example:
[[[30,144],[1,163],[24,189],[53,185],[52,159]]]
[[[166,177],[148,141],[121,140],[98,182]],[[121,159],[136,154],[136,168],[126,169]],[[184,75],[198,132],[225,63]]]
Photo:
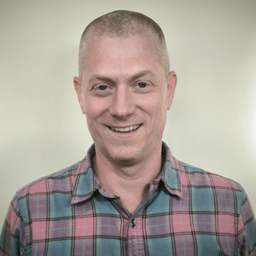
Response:
[[[84,160],[20,189],[0,255],[256,255],[253,210],[241,185],[172,157],[131,215]]]

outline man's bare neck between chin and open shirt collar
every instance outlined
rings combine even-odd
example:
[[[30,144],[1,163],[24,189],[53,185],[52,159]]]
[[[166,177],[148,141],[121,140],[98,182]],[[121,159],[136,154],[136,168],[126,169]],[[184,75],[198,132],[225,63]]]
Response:
[[[160,174],[161,148],[147,160],[133,166],[112,163],[97,151],[92,163],[104,189],[109,194],[118,195],[132,214],[148,197],[149,183]]]

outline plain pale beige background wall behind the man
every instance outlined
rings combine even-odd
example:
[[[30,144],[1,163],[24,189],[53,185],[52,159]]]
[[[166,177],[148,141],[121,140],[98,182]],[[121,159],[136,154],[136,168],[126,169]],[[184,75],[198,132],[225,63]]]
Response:
[[[115,9],[143,12],[166,34],[174,156],[241,183],[256,212],[255,0],[0,0],[0,225],[17,189],[92,143],[73,90],[79,38]]]

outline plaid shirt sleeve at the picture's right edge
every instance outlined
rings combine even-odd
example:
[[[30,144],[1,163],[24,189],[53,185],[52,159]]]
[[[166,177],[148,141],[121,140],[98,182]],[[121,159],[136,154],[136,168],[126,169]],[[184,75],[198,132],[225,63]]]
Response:
[[[237,255],[256,256],[256,222],[253,208],[247,197],[241,204],[238,221]]]

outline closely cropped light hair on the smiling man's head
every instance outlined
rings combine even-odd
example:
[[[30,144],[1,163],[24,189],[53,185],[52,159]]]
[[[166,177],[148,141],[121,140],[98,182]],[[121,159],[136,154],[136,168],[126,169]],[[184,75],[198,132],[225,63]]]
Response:
[[[153,40],[156,54],[160,57],[168,77],[170,62],[166,39],[160,26],[146,15],[117,10],[96,18],[84,29],[79,46],[79,78],[82,79],[86,47],[91,41],[104,36],[126,38],[132,35],[149,37]]]

